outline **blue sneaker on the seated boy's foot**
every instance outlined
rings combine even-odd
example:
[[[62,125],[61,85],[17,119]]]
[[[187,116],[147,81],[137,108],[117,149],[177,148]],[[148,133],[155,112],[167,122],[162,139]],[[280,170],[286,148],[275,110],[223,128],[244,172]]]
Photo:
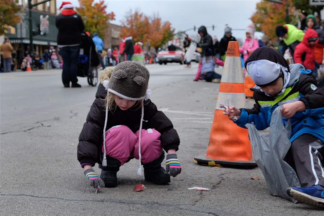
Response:
[[[291,187],[287,189],[287,194],[298,202],[324,208],[324,188],[320,185],[307,188]]]

